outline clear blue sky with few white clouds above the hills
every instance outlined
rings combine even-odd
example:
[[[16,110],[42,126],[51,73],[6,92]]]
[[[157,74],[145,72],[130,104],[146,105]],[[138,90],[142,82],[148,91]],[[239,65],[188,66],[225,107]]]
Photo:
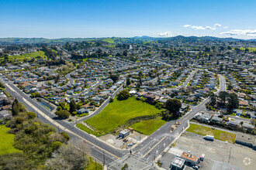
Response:
[[[0,37],[256,38],[255,0],[0,0]]]

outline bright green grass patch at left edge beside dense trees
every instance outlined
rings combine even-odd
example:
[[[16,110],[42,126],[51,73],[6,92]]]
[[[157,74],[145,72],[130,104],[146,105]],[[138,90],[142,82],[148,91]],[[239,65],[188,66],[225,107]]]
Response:
[[[13,147],[14,134],[8,134],[10,128],[5,125],[0,125],[0,155],[10,154],[12,152],[19,152],[18,149]]]

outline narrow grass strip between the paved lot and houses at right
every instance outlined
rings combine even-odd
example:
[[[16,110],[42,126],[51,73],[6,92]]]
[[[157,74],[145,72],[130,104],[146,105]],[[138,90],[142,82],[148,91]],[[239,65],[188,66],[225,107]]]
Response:
[[[192,132],[194,134],[200,134],[200,135],[213,135],[214,138],[220,140],[220,141],[228,141],[230,143],[234,143],[236,134],[228,133],[227,131],[220,131],[208,127],[204,127],[198,124],[190,124],[187,131]]]

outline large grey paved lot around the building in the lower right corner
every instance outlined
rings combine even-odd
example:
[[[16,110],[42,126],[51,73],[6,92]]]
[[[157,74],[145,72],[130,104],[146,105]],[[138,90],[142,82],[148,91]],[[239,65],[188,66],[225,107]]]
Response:
[[[174,148],[161,158],[163,167],[169,169],[169,165],[183,151],[190,151],[192,155],[199,157],[205,154],[205,159],[200,162],[199,169],[255,169],[256,151],[242,145],[225,144],[225,141],[206,141],[199,134],[185,132],[176,141]],[[191,169],[185,167],[185,169]]]

